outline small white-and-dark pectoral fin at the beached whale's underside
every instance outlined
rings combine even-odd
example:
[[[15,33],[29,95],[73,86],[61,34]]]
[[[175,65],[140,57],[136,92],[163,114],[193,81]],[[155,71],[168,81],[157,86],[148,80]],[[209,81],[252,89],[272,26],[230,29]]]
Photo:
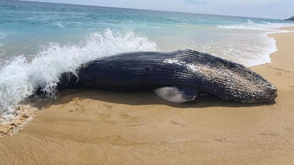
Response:
[[[198,97],[198,92],[191,87],[165,86],[153,91],[157,96],[175,103],[192,101]]]

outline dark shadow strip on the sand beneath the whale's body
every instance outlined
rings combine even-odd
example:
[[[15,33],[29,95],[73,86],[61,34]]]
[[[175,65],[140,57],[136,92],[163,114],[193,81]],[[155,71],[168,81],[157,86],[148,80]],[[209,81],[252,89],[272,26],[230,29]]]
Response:
[[[117,92],[106,90],[67,90],[58,93],[58,99],[50,105],[58,105],[70,102],[74,98],[93,99],[126,105],[168,105],[175,108],[205,108],[205,107],[254,107],[262,105],[273,105],[276,102],[266,103],[239,103],[234,101],[220,100],[215,97],[198,97],[194,101],[183,104],[166,101],[153,92]]]

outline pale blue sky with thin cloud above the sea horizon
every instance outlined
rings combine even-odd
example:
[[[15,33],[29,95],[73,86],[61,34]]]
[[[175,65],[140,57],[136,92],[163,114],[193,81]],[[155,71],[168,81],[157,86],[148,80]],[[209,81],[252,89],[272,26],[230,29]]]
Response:
[[[294,0],[32,0],[187,13],[286,19],[294,16]]]

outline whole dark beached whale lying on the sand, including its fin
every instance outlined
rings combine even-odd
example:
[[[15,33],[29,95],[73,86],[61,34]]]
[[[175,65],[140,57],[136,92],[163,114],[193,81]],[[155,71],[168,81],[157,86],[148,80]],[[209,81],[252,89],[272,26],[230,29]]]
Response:
[[[194,50],[99,58],[83,64],[78,76],[62,74],[58,90],[77,88],[153,90],[177,103],[206,94],[243,103],[265,102],[277,96],[276,87],[249,68]]]

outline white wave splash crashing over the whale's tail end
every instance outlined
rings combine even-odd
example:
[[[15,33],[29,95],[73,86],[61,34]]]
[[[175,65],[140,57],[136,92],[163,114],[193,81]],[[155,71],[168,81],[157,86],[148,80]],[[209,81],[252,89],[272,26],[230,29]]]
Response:
[[[15,57],[0,68],[0,115],[13,114],[17,105],[39,87],[54,96],[60,75],[69,71],[77,74],[85,62],[118,53],[156,50],[156,43],[145,36],[106,29],[80,44],[43,46],[31,62],[24,56]]]

